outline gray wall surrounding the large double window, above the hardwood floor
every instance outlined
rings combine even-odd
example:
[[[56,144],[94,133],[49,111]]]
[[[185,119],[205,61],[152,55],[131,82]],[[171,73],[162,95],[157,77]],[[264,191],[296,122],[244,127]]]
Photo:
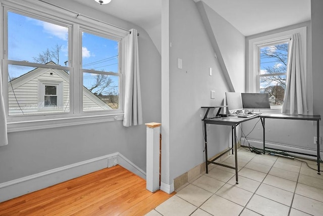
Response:
[[[73,1],[47,2],[125,29],[138,30],[143,121],[160,122],[160,54],[145,30]],[[112,121],[9,133],[8,139],[9,145],[0,147],[0,183],[115,152],[146,170],[145,125],[124,127],[122,121]]]

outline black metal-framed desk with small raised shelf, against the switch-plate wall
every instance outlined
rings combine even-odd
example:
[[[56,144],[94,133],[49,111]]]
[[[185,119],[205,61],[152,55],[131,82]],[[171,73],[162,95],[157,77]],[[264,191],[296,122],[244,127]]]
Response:
[[[201,108],[207,108],[206,113],[208,113],[210,108],[216,108],[216,107],[201,107]],[[254,119],[254,118],[258,118],[259,116],[253,116],[253,117],[249,117],[249,118],[240,118],[237,116],[228,116],[228,117],[223,117],[223,118],[207,118],[207,114],[204,116],[204,118],[202,119],[204,121],[204,143],[205,143],[205,168],[206,168],[206,173],[208,173],[208,167],[207,165],[210,163],[213,164],[217,164],[220,166],[225,166],[228,168],[232,168],[236,170],[236,184],[238,184],[238,158],[237,158],[237,131],[236,131],[236,127],[245,121]],[[230,149],[228,149],[227,151],[223,152],[221,155],[219,155],[218,157],[212,159],[212,160],[208,160],[207,158],[207,135],[206,135],[206,124],[218,124],[218,125],[229,125],[232,127],[232,147]],[[221,163],[217,163],[214,162],[214,160],[217,160],[219,157],[221,157],[222,155],[226,154],[227,152],[231,151],[233,153],[234,150],[234,155],[235,155],[235,166],[229,166],[226,164],[221,164]]]

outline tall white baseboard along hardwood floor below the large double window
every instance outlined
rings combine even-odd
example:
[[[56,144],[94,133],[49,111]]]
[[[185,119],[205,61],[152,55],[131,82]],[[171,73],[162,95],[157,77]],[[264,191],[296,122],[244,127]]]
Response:
[[[52,185],[74,179],[91,172],[120,164],[134,174],[146,179],[146,173],[119,152],[78,163],[50,169],[38,174],[0,184],[0,202],[22,196]]]

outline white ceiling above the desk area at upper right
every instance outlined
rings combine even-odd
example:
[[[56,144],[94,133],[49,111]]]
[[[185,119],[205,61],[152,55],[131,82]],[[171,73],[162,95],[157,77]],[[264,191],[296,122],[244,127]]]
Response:
[[[203,2],[245,36],[311,19],[310,0],[203,0]]]

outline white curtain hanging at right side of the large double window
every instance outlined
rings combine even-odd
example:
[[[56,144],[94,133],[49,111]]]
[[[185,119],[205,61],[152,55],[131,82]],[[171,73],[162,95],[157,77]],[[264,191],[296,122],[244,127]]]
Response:
[[[125,114],[124,126],[142,124],[142,107],[139,79],[138,36],[131,29],[125,37]]]

